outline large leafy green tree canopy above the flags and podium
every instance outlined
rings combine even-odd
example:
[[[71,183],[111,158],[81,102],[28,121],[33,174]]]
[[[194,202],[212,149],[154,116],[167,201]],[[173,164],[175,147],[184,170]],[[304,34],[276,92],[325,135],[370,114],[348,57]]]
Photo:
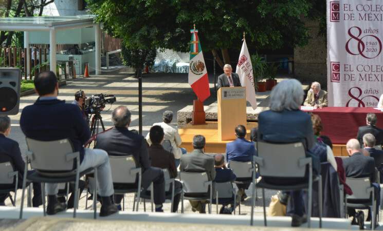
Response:
[[[87,0],[111,35],[138,49],[190,50],[190,29],[196,24],[204,50],[240,49],[243,32],[255,49],[305,46],[309,36],[302,17],[308,0]],[[315,0],[320,1],[320,0]],[[223,63],[218,61],[221,67]]]

